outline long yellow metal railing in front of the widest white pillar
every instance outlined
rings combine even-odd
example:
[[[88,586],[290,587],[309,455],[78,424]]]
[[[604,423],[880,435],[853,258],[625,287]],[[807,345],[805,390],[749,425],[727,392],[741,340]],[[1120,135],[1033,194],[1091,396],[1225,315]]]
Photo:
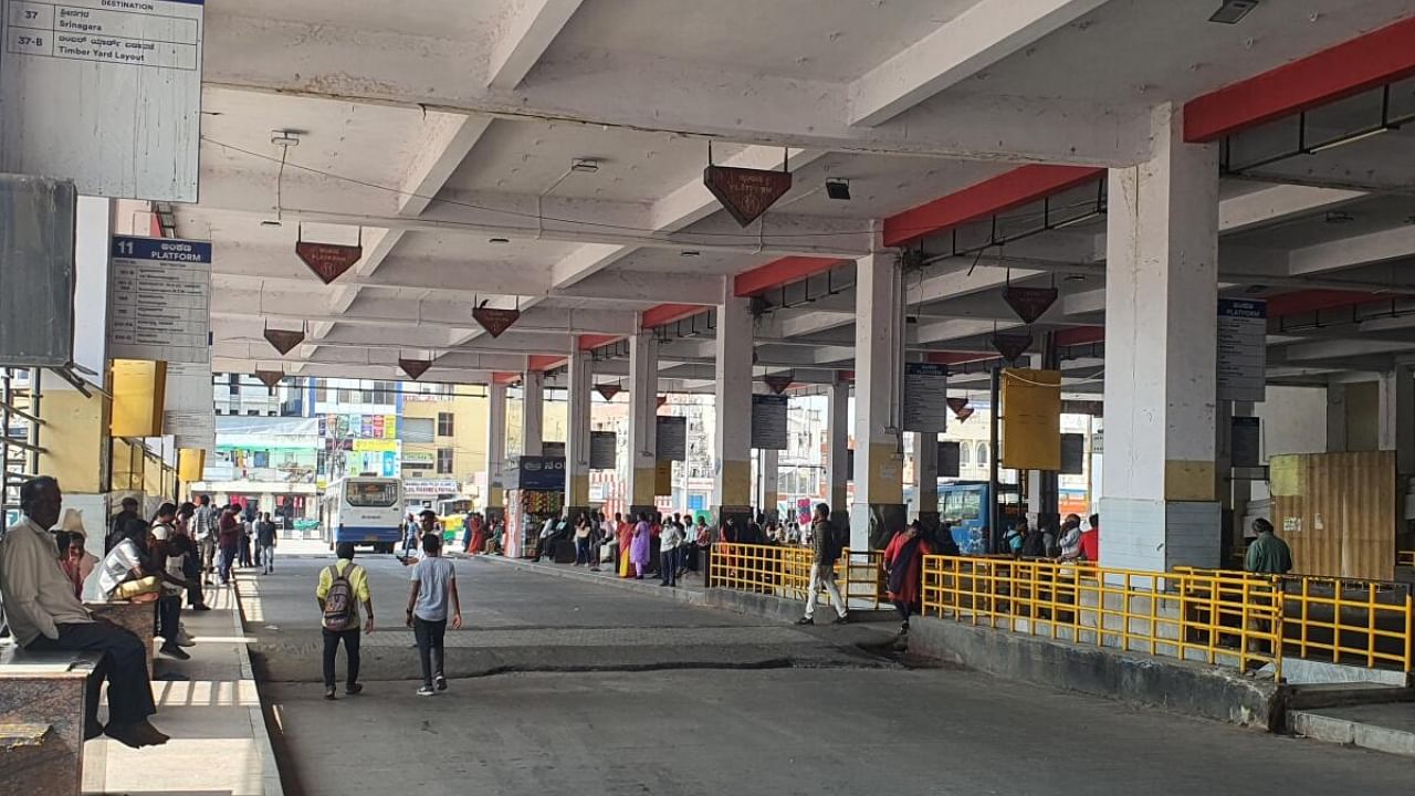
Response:
[[[972,625],[1282,677],[1274,578],[930,555],[923,612]]]

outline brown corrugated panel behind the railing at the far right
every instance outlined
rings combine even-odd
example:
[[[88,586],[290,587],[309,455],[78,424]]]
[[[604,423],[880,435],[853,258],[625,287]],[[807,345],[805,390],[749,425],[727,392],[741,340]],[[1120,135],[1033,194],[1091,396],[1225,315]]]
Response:
[[[1395,575],[1395,452],[1300,453],[1268,462],[1272,524],[1303,575]]]

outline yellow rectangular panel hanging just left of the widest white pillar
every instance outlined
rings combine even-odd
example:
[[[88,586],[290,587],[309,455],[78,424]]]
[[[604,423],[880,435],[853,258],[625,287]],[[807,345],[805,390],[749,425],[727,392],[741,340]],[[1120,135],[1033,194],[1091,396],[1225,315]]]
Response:
[[[1061,469],[1061,371],[1003,368],[1002,463],[1015,470]]]

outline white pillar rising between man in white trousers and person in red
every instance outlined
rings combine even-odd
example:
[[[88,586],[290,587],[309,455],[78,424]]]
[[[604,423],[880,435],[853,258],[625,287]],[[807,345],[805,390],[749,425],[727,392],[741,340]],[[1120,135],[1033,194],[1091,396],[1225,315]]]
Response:
[[[903,280],[893,252],[855,265],[855,504],[850,548],[879,550],[904,527]]]

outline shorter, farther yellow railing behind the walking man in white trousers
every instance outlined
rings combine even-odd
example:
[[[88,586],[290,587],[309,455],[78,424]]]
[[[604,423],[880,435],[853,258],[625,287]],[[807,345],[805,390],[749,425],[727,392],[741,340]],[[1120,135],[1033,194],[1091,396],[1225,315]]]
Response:
[[[809,547],[719,542],[712,548],[709,585],[804,601],[812,559]],[[835,582],[848,606],[876,609],[886,602],[883,562],[880,551],[841,552]]]

